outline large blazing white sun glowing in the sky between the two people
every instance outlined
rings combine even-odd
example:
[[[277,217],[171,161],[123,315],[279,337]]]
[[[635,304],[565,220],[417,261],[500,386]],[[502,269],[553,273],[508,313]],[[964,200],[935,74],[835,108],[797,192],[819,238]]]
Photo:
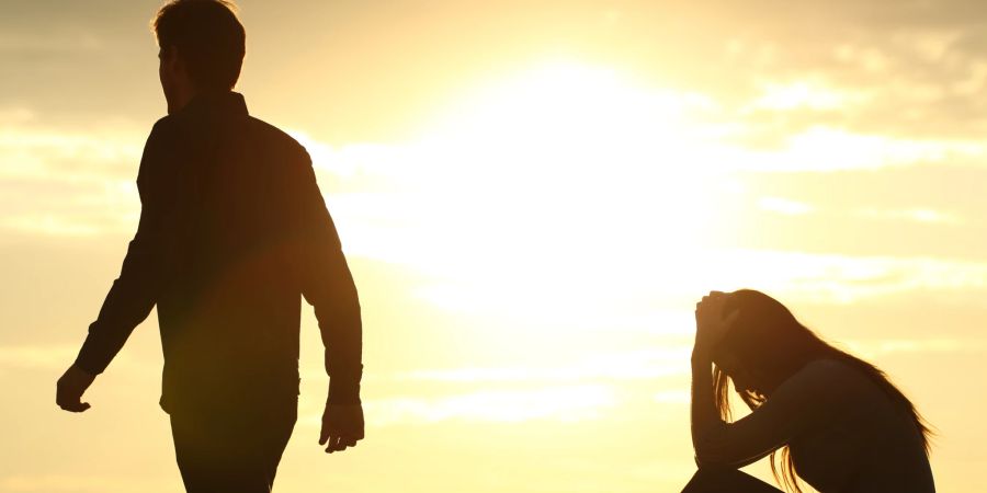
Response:
[[[402,173],[415,183],[415,230],[429,238],[421,257],[472,286],[435,296],[547,317],[600,300],[605,286],[684,282],[679,260],[717,228],[690,119],[701,104],[572,61],[458,98],[423,126]]]

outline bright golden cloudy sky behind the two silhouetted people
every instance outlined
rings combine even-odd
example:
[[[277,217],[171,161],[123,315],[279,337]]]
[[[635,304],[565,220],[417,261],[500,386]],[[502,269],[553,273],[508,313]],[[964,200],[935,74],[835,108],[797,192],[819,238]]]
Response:
[[[979,1],[238,4],[236,90],[311,153],[365,323],[367,437],[326,456],[305,307],[277,491],[678,491],[692,310],[741,287],[987,490]],[[136,229],[159,5],[0,1],[3,492],[181,490],[155,313],[54,403]]]

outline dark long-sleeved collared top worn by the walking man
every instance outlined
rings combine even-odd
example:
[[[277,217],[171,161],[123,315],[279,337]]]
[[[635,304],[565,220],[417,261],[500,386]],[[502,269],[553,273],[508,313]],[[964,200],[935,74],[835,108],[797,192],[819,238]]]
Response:
[[[297,398],[304,296],[329,401],[360,402],[356,288],[305,148],[240,94],[200,94],[155,124],[137,187],[137,233],[76,365],[102,372],[157,303],[166,411]]]

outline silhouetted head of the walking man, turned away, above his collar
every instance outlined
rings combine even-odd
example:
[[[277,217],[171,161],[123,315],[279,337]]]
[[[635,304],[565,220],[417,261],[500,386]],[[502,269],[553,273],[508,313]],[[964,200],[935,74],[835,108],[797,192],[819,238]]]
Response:
[[[155,16],[168,113],[200,92],[229,91],[246,53],[243,25],[225,0],[171,0]]]

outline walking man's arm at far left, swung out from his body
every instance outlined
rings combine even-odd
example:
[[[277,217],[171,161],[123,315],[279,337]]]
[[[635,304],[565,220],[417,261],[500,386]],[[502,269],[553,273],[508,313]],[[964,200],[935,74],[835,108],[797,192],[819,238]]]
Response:
[[[168,154],[172,151],[166,126],[158,122],[144,147],[137,173],[141,204],[137,232],[127,248],[120,277],[113,282],[99,317],[89,325],[89,334],[66,376],[70,371],[76,376],[81,371],[90,377],[103,372],[134,328],[147,318],[157,301],[164,272],[163,251],[168,241],[164,225],[169,220],[170,204],[174,199],[167,185],[174,180],[174,170],[167,169]],[[67,401],[69,406],[79,410],[73,404],[89,385],[72,385],[78,381],[84,379],[59,380],[59,405]],[[91,381],[90,378],[89,382]]]

